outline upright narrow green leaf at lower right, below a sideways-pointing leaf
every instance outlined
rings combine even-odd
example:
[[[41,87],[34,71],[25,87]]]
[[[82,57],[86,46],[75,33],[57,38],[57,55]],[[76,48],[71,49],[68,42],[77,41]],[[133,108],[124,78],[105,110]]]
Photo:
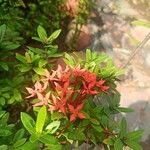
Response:
[[[119,137],[123,138],[127,134],[127,122],[125,118],[122,118],[121,123],[120,123],[120,134]]]

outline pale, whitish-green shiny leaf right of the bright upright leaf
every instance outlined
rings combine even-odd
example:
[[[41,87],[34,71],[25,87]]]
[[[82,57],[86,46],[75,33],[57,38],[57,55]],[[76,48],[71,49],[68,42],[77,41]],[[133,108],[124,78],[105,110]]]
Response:
[[[60,126],[60,121],[53,121],[47,127],[46,130],[51,134],[55,133]]]

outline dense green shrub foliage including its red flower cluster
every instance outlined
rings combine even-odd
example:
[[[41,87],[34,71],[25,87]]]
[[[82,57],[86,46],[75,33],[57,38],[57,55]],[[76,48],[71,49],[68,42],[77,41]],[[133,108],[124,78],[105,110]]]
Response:
[[[122,71],[105,54],[58,50],[65,17],[81,25],[87,19],[91,3],[79,3],[73,11],[71,0],[0,0],[1,150],[67,150],[83,143],[141,149],[143,131],[129,132],[125,118],[115,120],[132,111],[120,107]],[[20,51],[31,39],[38,46]]]

